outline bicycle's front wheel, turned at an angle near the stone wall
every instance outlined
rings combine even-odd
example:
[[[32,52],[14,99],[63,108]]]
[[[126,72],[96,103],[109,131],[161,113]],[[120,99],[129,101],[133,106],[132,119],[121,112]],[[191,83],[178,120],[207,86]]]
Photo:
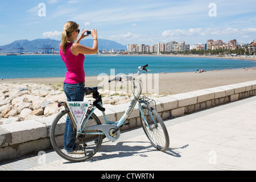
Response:
[[[142,112],[143,115],[139,114],[147,138],[156,149],[166,151],[169,148],[170,139],[163,119],[152,107],[142,105]]]

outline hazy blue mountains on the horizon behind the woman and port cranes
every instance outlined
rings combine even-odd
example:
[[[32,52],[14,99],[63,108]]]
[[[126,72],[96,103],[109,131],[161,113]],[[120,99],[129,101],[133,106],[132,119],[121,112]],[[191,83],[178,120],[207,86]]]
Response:
[[[0,46],[0,52],[19,52],[23,49],[23,52],[42,52],[42,49],[46,45],[51,45],[55,48],[54,51],[59,51],[60,40],[53,39],[35,39],[35,40],[16,40],[13,43]],[[83,39],[80,44],[86,47],[93,46],[92,39]],[[112,40],[98,39],[99,50],[126,50],[126,46],[114,42]]]

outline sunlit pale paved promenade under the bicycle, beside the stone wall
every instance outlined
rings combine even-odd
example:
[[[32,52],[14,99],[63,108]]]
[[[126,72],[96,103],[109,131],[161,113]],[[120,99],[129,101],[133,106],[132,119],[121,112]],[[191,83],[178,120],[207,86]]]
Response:
[[[55,152],[0,164],[5,170],[256,170],[256,96],[165,121],[166,152],[142,129],[105,142],[89,161],[70,163]],[[42,153],[44,154],[44,153]]]

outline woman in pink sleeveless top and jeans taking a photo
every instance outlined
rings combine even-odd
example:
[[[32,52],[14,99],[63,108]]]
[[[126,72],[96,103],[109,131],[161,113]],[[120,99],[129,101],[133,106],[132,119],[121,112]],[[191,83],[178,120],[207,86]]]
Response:
[[[67,96],[68,102],[84,101],[84,54],[90,55],[98,52],[96,29],[91,30],[91,35],[93,38],[92,48],[85,47],[80,44],[82,39],[89,36],[85,35],[85,32],[87,31],[88,30],[84,30],[83,28],[82,33],[79,36],[79,24],[76,22],[67,22],[63,26],[60,43],[60,56],[67,67],[67,73],[63,83],[63,90]],[[73,139],[73,127],[68,117],[65,123],[64,148],[69,154],[84,154],[84,151],[77,150],[77,146],[75,146],[75,139]]]

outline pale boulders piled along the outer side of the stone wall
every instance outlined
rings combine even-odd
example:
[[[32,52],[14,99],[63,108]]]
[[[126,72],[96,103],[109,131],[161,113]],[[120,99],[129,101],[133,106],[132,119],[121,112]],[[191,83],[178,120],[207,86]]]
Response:
[[[133,97],[126,92],[99,92],[103,104],[124,104]],[[93,101],[93,98],[89,95],[84,100]],[[61,101],[67,101],[62,85],[0,84],[0,125],[57,115],[63,109],[57,107]]]

